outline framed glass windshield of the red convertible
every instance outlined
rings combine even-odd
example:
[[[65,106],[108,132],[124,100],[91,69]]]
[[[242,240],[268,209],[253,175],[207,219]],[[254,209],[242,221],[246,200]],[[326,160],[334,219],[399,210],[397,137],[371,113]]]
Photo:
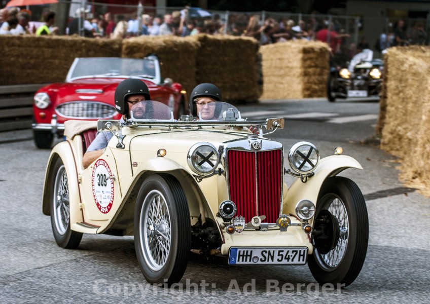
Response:
[[[70,78],[134,76],[154,79],[156,63],[148,58],[79,58],[71,67]]]

